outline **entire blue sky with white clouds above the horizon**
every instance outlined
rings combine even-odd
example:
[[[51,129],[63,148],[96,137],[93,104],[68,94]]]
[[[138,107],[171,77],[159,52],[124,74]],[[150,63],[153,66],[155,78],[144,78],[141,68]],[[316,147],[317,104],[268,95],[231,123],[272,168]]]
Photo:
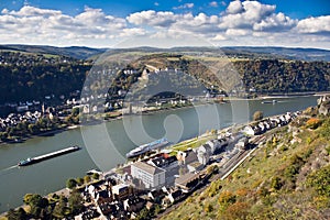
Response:
[[[330,1],[0,0],[0,44],[330,50]]]

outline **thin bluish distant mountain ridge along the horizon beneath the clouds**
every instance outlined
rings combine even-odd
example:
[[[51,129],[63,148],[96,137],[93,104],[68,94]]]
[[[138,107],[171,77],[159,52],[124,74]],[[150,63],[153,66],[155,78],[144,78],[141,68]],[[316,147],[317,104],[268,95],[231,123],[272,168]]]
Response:
[[[68,46],[56,47],[47,45],[22,45],[22,44],[7,44],[0,45],[1,50],[10,50],[18,52],[28,52],[36,54],[52,54],[70,56],[77,59],[96,58],[98,55],[112,50],[114,53],[127,52],[129,48],[92,48],[86,46]],[[173,47],[173,48],[156,48],[156,47],[138,47],[134,51],[142,52],[219,52],[228,56],[239,56],[245,58],[277,58],[277,59],[297,59],[297,61],[323,61],[330,62],[330,51],[320,48],[293,48],[293,47],[276,47],[276,46],[226,46],[226,47]]]

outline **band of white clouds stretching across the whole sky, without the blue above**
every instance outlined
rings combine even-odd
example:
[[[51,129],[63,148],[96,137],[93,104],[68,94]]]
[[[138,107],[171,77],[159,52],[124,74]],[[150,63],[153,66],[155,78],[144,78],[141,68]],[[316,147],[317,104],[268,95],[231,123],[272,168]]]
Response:
[[[223,6],[220,1],[219,7]],[[211,3],[210,2],[210,6]],[[216,6],[213,3],[213,6]],[[194,4],[183,4],[185,9]],[[292,19],[276,7],[257,1],[232,1],[219,14],[139,11],[127,18],[85,7],[77,15],[25,6],[18,11],[2,9],[0,42],[53,45],[107,46],[134,36],[157,43],[182,43],[187,36],[239,45],[299,45],[330,48],[330,15]],[[194,37],[193,37],[194,38]],[[319,38],[319,41],[318,41]],[[166,40],[166,41],[163,41]],[[168,41],[167,41],[168,40]],[[190,41],[193,42],[193,40]]]

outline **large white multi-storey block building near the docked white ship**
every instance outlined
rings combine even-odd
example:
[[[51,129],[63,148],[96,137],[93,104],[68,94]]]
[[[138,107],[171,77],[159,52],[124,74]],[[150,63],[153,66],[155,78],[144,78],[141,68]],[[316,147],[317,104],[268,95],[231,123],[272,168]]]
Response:
[[[136,162],[131,165],[131,175],[140,179],[146,188],[156,188],[165,185],[165,169],[144,162]]]

